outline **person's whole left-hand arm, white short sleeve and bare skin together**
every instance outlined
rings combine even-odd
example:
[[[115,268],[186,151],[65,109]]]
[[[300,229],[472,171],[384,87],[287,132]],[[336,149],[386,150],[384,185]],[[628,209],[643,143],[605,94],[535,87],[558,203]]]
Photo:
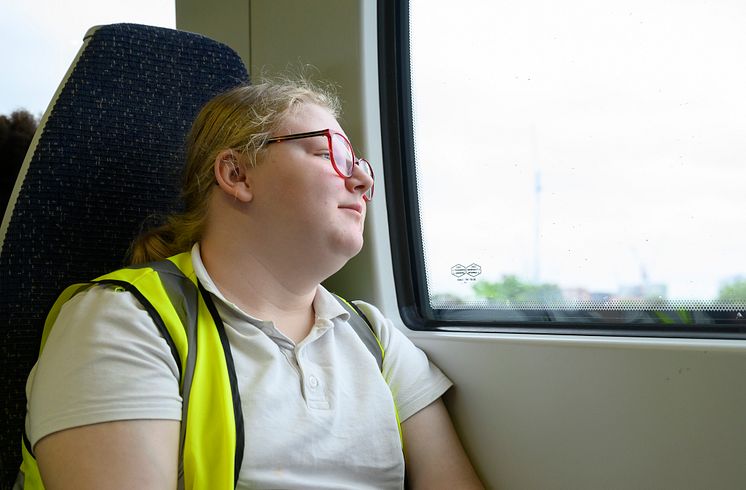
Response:
[[[130,293],[72,298],[29,377],[28,436],[46,487],[176,488],[178,373]]]

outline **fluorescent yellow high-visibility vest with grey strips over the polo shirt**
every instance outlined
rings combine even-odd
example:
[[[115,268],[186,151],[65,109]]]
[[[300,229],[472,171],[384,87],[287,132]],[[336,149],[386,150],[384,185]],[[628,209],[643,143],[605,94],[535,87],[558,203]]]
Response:
[[[132,293],[168,343],[179,367],[179,390],[183,399],[180,488],[235,488],[244,451],[236,371],[225,327],[210,294],[197,280],[190,253],[120,269],[90,283],[68,287],[47,316],[40,353],[62,305],[95,284],[111,285]],[[382,367],[383,346],[367,318],[351,303],[340,297],[337,299],[350,313],[350,325],[376,358],[379,368]],[[29,490],[43,489],[30,442],[25,434],[23,439],[20,486]]]

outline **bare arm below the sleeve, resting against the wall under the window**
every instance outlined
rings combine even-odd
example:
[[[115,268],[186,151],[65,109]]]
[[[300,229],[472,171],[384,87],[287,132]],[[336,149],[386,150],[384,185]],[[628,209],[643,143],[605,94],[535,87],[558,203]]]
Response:
[[[408,488],[479,489],[442,399],[402,423]]]

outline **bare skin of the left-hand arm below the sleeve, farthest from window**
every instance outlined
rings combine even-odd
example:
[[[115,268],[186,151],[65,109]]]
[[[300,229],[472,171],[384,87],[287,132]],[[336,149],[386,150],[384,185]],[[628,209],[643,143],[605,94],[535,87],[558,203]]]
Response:
[[[176,488],[180,422],[123,420],[55,432],[35,446],[48,490]]]

